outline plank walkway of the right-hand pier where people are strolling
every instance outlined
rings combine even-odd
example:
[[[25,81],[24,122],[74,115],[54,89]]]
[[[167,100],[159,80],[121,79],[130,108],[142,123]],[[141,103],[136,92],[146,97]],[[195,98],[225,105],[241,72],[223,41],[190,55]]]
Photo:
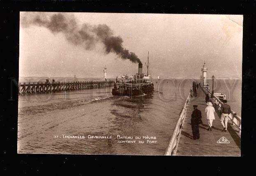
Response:
[[[241,117],[232,111],[232,118],[228,120],[227,131],[222,131],[220,123],[220,107],[223,104],[216,96],[212,102],[215,108],[215,120],[212,131],[208,131],[205,113],[205,95],[210,91],[201,86],[198,88],[197,97],[187,98],[180,118],[176,124],[171,141],[165,155],[174,156],[241,156]],[[200,139],[193,140],[191,129],[191,114],[193,105],[198,105],[202,113],[203,124],[199,124]],[[232,108],[232,107],[231,107]],[[222,138],[224,137],[224,138]],[[228,141],[225,141],[225,138]],[[224,140],[220,140],[224,139]]]

